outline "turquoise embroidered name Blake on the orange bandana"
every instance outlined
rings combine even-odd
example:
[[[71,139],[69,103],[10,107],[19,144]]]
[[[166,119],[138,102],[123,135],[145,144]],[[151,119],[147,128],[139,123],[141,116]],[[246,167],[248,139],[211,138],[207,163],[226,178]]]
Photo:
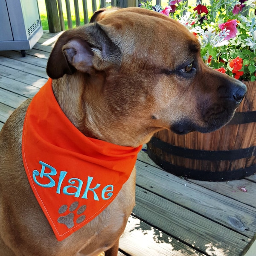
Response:
[[[42,161],[39,161],[39,163],[42,166],[41,172],[39,172],[38,170],[34,170],[32,175],[34,182],[38,186],[41,186],[44,188],[56,187],[57,194],[63,193],[65,195],[73,195],[76,198],[80,197],[81,191],[85,187],[84,193],[82,194],[81,198],[88,199],[88,192],[93,192],[93,199],[95,201],[99,201],[100,200],[99,197],[102,198],[103,200],[108,200],[113,195],[112,193],[114,190],[113,185],[109,184],[107,186],[104,186],[101,189],[100,187],[102,185],[100,183],[96,183],[96,186],[91,187],[91,184],[93,182],[93,177],[90,177],[90,176],[87,176],[86,184],[84,184],[83,180],[76,177],[72,177],[67,180],[66,176],[68,172],[66,171],[59,172],[58,182],[56,184],[56,181],[57,181],[56,175],[58,174],[57,170],[53,166],[50,166],[49,164],[44,163]],[[49,170],[48,172],[46,172],[46,168]],[[41,183],[43,179],[44,181],[47,180],[48,183]],[[68,182],[70,185],[62,186],[64,181]],[[77,183],[77,186],[75,186],[76,183]]]

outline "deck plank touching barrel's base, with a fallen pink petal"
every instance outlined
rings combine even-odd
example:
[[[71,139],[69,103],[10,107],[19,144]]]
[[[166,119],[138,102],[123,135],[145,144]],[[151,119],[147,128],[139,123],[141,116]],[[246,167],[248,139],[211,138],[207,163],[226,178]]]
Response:
[[[250,180],[241,179],[227,182],[189,181],[256,208],[256,183]]]

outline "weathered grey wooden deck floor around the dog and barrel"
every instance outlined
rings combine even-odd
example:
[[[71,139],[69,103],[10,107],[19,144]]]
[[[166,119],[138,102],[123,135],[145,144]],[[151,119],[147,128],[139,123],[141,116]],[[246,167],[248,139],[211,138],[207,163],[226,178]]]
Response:
[[[0,51],[0,127],[47,81],[47,58],[57,38],[44,32],[25,58]],[[256,175],[229,182],[184,180],[141,151],[136,189],[120,256],[256,256]]]

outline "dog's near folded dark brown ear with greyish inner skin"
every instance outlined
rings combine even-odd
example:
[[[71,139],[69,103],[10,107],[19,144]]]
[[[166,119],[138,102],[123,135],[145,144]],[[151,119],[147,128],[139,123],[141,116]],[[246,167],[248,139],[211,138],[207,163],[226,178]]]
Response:
[[[56,42],[47,63],[47,74],[58,79],[76,70],[83,73],[104,71],[121,63],[119,48],[99,23],[64,32]]]

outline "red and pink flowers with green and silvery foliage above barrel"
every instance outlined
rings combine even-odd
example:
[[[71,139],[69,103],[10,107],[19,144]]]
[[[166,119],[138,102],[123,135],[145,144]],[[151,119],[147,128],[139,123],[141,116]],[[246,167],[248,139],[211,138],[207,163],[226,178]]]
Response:
[[[205,1],[201,2],[189,6],[187,0],[171,1],[169,4],[175,4],[176,9],[169,16],[198,38],[201,56],[209,67],[221,68],[219,71],[241,81],[255,81],[256,1],[209,0],[205,6]],[[158,12],[164,9],[152,6],[151,2],[141,7]]]

